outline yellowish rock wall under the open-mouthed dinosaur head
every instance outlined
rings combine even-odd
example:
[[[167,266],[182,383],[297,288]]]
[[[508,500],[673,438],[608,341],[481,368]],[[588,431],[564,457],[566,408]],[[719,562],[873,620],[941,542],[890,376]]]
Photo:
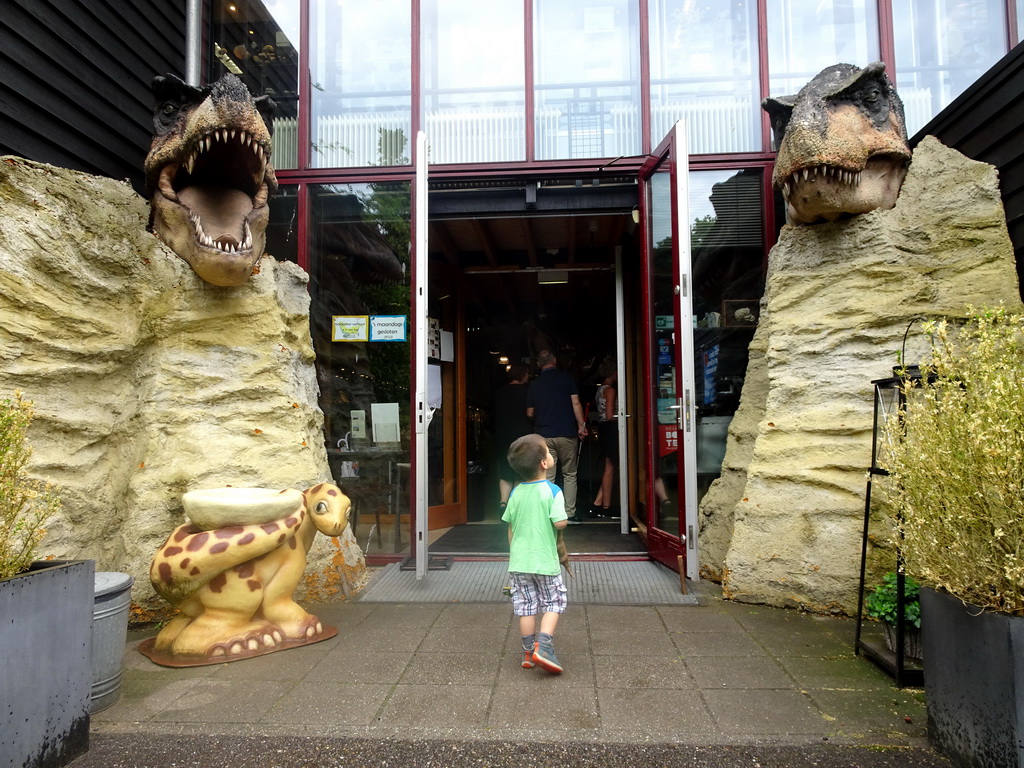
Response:
[[[244,285],[201,280],[110,178],[0,158],[0,391],[36,403],[30,471],[55,482],[46,554],[134,577],[133,618],[166,615],[153,553],[182,496],[330,480],[308,275],[264,257]],[[366,583],[346,528],[318,537],[298,593]]]

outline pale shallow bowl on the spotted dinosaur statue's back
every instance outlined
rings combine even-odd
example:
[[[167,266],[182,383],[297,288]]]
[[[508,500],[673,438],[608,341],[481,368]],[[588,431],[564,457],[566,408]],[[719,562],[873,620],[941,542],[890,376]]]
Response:
[[[295,488],[207,488],[181,497],[185,515],[202,530],[258,525],[298,512],[303,497]]]

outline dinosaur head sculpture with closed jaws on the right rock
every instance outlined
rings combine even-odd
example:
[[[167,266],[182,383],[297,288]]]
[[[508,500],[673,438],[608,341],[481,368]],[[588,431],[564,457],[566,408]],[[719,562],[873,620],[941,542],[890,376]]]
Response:
[[[903,102],[881,61],[835,65],[795,96],[766,98],[778,156],[772,181],[791,224],[896,205],[910,160]]]

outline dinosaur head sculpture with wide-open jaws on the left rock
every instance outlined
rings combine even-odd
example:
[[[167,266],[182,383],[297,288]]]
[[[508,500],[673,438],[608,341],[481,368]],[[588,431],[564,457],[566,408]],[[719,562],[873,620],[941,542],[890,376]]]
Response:
[[[202,88],[153,80],[155,135],[145,158],[151,225],[215,286],[249,280],[266,245],[273,102],[233,75]]]

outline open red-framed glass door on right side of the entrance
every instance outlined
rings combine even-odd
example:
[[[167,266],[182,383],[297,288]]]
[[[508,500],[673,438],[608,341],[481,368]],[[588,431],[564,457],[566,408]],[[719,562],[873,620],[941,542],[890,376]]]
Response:
[[[697,578],[693,314],[686,130],[676,123],[640,171],[643,225],[647,548]]]

